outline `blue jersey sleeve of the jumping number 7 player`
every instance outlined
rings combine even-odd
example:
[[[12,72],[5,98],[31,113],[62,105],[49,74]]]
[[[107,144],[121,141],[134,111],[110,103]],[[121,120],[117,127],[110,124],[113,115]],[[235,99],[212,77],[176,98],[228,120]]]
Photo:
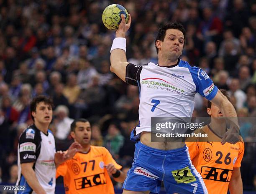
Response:
[[[200,93],[200,95],[205,97],[207,100],[212,100],[212,98],[216,96],[218,88],[214,85],[207,73],[197,67],[189,68],[189,71],[195,83],[196,92]]]

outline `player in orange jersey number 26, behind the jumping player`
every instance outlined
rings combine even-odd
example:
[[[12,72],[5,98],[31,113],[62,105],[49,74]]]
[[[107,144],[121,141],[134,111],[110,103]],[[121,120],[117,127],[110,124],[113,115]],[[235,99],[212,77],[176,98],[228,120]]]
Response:
[[[228,97],[227,91],[220,90]],[[229,97],[228,97],[229,99]],[[192,164],[204,179],[209,194],[243,194],[243,183],[240,173],[244,144],[220,143],[227,131],[226,119],[220,108],[208,101],[207,113],[211,116],[210,124],[199,131],[207,134],[195,141],[186,142]]]

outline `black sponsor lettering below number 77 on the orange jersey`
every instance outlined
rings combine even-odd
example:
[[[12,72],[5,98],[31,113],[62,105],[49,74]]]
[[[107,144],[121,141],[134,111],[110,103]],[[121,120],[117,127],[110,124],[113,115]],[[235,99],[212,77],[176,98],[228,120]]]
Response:
[[[74,179],[74,181],[77,190],[107,183],[104,172],[91,176],[85,176],[79,179]]]

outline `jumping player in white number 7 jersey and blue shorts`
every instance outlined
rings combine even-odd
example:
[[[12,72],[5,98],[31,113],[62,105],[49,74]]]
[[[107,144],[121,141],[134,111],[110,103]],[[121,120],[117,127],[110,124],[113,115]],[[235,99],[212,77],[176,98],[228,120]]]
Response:
[[[206,194],[184,141],[151,141],[151,117],[191,117],[196,93],[215,103],[225,116],[235,118],[233,123],[238,126],[235,108],[205,71],[179,58],[186,38],[182,25],[168,23],[159,29],[155,42],[158,64],[134,65],[125,55],[125,33],[131,26],[131,15],[127,24],[124,15],[121,17],[110,51],[110,70],[140,91],[140,123],[131,134],[131,139],[137,141],[134,162],[123,184],[123,194],[158,193],[161,181],[170,194]],[[223,143],[233,136],[226,134]]]

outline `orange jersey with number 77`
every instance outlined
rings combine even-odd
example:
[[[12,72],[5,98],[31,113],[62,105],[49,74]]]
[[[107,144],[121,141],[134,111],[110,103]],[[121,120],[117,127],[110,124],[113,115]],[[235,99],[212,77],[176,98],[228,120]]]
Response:
[[[114,194],[114,187],[104,165],[117,164],[109,151],[104,147],[91,146],[87,154],[78,152],[56,171],[56,177],[64,177],[66,194]]]

